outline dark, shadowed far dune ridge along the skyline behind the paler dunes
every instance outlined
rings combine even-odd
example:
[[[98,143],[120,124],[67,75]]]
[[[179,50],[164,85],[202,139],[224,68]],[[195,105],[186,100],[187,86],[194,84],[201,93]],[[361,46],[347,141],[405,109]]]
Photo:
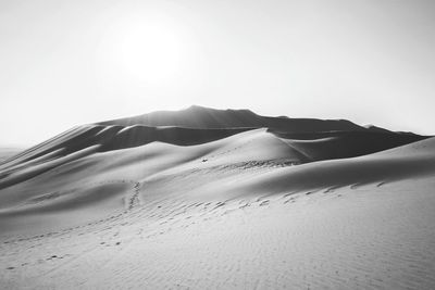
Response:
[[[33,177],[41,163],[63,159],[98,147],[98,152],[121,150],[161,141],[195,146],[246,130],[268,128],[285,140],[303,159],[300,163],[353,157],[411,143],[427,137],[358,126],[348,121],[263,117],[249,110],[214,110],[190,106],[182,111],[161,111],[137,117],[74,127],[0,163],[0,188]],[[79,155],[79,154],[78,154]],[[33,174],[20,168],[38,166]],[[14,177],[21,176],[21,177]],[[16,180],[16,181],[11,181]]]

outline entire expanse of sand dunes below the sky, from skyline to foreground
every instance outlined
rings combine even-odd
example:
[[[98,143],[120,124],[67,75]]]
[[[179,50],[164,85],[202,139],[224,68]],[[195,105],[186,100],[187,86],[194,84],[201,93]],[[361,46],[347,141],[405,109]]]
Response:
[[[0,281],[433,289],[435,138],[190,106],[0,163]]]

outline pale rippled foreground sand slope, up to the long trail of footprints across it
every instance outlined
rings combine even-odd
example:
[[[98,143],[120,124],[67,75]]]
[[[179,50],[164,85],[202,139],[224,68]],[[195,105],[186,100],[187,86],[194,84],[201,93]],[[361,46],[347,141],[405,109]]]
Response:
[[[138,207],[2,240],[0,280],[5,289],[433,289],[434,186]]]

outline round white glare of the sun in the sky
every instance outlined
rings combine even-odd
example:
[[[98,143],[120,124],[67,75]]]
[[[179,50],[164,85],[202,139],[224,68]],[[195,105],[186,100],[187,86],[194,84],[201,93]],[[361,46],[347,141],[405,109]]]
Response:
[[[111,38],[111,62],[129,79],[161,85],[188,64],[184,31],[170,17],[124,20]]]

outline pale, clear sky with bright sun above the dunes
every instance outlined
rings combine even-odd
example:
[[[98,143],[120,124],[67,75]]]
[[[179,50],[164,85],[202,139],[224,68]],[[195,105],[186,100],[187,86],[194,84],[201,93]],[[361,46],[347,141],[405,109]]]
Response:
[[[0,0],[0,147],[191,104],[435,134],[435,1]]]

